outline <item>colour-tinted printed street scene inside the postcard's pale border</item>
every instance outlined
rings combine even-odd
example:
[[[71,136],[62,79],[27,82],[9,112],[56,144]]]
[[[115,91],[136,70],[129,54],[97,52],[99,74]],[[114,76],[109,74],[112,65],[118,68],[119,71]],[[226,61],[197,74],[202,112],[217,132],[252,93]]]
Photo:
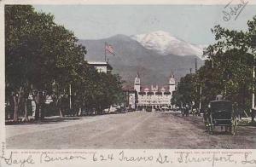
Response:
[[[255,3],[3,6],[7,149],[256,149]]]

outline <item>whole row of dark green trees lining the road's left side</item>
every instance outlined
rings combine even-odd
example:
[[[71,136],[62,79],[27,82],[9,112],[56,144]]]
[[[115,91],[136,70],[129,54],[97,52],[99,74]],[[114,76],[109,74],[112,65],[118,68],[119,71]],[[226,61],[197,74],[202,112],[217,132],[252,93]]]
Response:
[[[72,111],[102,111],[122,101],[118,75],[96,72],[85,60],[86,49],[54,16],[30,5],[5,6],[6,115],[28,118],[28,101],[36,103],[36,119],[44,118],[51,95],[59,114],[67,112],[72,87]]]

